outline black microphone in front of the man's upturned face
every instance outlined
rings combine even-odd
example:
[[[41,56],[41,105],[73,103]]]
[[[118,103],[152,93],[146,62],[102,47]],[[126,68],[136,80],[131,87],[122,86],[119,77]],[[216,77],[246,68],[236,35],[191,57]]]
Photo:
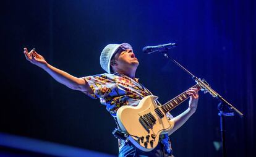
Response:
[[[147,53],[147,54],[151,54],[151,53],[155,53],[157,51],[159,51],[159,52],[166,51],[168,49],[175,48],[176,46],[177,46],[176,43],[169,43],[169,44],[157,45],[157,46],[145,46],[142,49],[142,52]]]

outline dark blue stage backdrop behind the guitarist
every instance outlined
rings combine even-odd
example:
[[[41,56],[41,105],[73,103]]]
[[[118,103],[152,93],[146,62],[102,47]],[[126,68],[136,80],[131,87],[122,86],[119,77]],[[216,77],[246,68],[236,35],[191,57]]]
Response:
[[[54,81],[26,61],[23,48],[83,77],[104,73],[99,57],[106,45],[130,43],[140,83],[164,103],[195,82],[163,54],[142,48],[173,42],[178,46],[169,55],[244,113],[226,117],[228,155],[255,150],[254,0],[4,1],[0,12],[0,132],[117,155],[105,106]],[[218,103],[200,92],[197,112],[171,135],[174,155],[221,155]]]

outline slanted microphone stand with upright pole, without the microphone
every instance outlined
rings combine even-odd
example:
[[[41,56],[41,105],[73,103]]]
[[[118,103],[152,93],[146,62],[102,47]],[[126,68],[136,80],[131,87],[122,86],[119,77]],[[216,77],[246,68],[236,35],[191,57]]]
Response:
[[[213,96],[213,98],[220,100],[220,103],[218,104],[218,110],[219,110],[218,115],[220,116],[221,142],[222,142],[222,148],[223,148],[222,155],[223,155],[223,157],[226,157],[226,140],[225,140],[226,130],[224,130],[224,128],[225,128],[224,127],[224,116],[234,116],[234,112],[236,112],[240,117],[243,117],[244,114],[242,114],[242,112],[240,112],[238,109],[236,109],[232,104],[230,104],[221,95],[219,95],[215,90],[213,90],[204,79],[201,80],[200,78],[196,77],[191,72],[189,72],[189,70],[187,70],[185,67],[181,66],[181,64],[179,64],[179,62],[175,61],[172,57],[170,57],[168,55],[167,48],[165,50],[161,50],[160,52],[163,53],[164,57],[170,59],[177,66],[181,67],[182,70],[187,72],[187,74],[191,75],[192,78],[195,80],[195,82],[197,82],[197,84],[200,85],[200,87],[202,88],[204,93],[210,93],[210,95]],[[234,112],[224,112],[223,111],[224,105],[228,106],[228,108]]]

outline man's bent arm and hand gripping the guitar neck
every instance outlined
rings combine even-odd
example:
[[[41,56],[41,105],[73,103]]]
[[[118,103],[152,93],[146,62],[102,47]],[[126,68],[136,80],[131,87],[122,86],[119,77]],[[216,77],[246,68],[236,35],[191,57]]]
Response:
[[[187,120],[189,119],[192,114],[197,109],[197,103],[198,103],[198,91],[197,88],[190,88],[190,90],[187,91],[187,94],[190,95],[189,100],[189,108],[186,109],[186,111],[182,112],[178,116],[174,117],[170,121],[174,122],[174,127],[172,130],[168,132],[168,135],[173,134],[177,129],[179,129]]]

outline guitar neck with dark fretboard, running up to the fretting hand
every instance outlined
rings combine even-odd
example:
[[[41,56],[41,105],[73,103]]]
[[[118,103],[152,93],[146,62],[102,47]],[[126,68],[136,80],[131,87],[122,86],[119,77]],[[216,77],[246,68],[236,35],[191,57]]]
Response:
[[[197,88],[197,90],[201,89],[200,85],[198,85],[198,84],[194,85],[192,88]],[[181,93],[180,95],[178,95],[175,98],[173,98],[172,100],[170,100],[167,103],[163,104],[161,106],[161,109],[166,114],[167,112],[169,112],[172,109],[176,108],[176,106],[178,106],[179,104],[181,104],[184,101],[186,101],[188,98],[189,98],[189,95],[187,94],[187,90],[186,90],[183,93]]]

